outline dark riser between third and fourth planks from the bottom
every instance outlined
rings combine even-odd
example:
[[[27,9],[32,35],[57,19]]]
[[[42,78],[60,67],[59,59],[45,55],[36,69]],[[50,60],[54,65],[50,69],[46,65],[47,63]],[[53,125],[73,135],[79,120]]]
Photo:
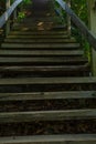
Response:
[[[58,91],[95,91],[96,84],[4,84],[1,86],[0,92],[2,93],[15,93],[15,92],[58,92]]]

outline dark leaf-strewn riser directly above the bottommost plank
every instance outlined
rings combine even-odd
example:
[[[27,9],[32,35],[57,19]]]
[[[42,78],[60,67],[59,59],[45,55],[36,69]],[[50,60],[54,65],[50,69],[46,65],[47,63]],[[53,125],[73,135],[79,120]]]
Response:
[[[56,121],[56,122],[40,122],[40,121],[38,121],[38,122],[9,123],[9,124],[2,124],[2,125],[0,124],[0,127],[1,127],[0,128],[0,144],[1,144],[1,136],[9,136],[9,138],[10,138],[10,136],[15,137],[18,135],[28,136],[28,135],[34,135],[35,134],[35,136],[40,135],[42,137],[42,135],[44,135],[44,134],[45,135],[47,134],[49,136],[50,135],[53,136],[54,134],[56,134],[55,136],[57,136],[58,134],[63,135],[66,132],[67,132],[67,134],[65,134],[65,135],[70,135],[71,134],[70,130],[72,130],[73,133],[74,133],[74,131],[76,132],[75,137],[74,137],[74,135],[72,136],[72,138],[76,141],[76,136],[78,135],[78,133],[79,134],[83,133],[84,134],[83,137],[86,137],[85,136],[86,134],[93,133],[92,127],[95,128],[95,126],[96,126],[95,120],[83,120],[83,121],[75,120],[75,123],[76,123],[75,125],[74,125],[73,120],[71,120],[71,121],[60,121],[60,122],[58,121]],[[79,125],[85,125],[85,130]],[[22,127],[23,127],[23,131],[22,131]],[[26,130],[26,127],[28,127],[28,130]],[[40,127],[41,127],[41,131],[39,131]],[[57,131],[55,131],[55,127],[57,128]],[[87,132],[87,128],[89,128],[88,132]],[[9,130],[10,130],[10,132],[9,132]],[[1,131],[3,133],[1,133]],[[96,130],[94,130],[94,132],[96,132]],[[96,138],[94,136],[94,134],[93,134],[92,137]],[[86,138],[89,140],[90,138],[89,135]],[[54,140],[56,140],[56,137]],[[68,141],[70,137],[65,136],[64,140]],[[28,141],[28,138],[25,141]],[[33,141],[34,141],[34,138],[33,138]],[[78,138],[78,141],[79,141],[79,138]]]

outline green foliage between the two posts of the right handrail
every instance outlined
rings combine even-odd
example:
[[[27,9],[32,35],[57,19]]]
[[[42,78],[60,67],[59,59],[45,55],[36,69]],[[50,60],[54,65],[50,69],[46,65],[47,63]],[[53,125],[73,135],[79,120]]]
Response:
[[[88,25],[88,11],[87,11],[87,1],[86,0],[72,0],[72,9],[74,12],[83,20],[83,22]],[[75,29],[73,30],[74,35],[76,37],[76,40],[82,43],[82,47],[84,48],[85,55],[90,61],[90,50],[89,50],[89,43],[84,39],[84,37],[81,34],[81,32]]]

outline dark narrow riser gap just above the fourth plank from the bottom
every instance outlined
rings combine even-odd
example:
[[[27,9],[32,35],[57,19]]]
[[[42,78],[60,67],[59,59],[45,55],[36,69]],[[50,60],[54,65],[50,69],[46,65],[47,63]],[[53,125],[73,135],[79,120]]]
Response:
[[[12,73],[12,74],[11,74]],[[85,75],[89,75],[89,72],[79,72],[79,71],[76,71],[76,72],[57,72],[54,74],[54,72],[49,72],[49,73],[45,73],[45,72],[34,72],[34,73],[31,73],[31,72],[0,72],[0,78],[25,78],[25,76],[29,76],[29,78],[34,78],[34,76],[46,76],[46,78],[54,78],[54,76],[85,76]]]

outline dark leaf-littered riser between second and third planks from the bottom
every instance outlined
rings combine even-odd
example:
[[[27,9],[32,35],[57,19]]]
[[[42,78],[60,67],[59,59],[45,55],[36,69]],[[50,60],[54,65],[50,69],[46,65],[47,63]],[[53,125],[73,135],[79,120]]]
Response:
[[[50,92],[49,92],[50,93]],[[2,95],[6,95],[2,94]],[[10,97],[12,94],[10,94]],[[18,95],[18,94],[17,94]],[[35,94],[34,94],[35,95]],[[33,96],[34,96],[33,95]],[[96,97],[92,95],[92,97],[86,97],[82,99],[68,99],[67,96],[64,99],[49,99],[43,97],[43,100],[38,100],[36,97],[30,99],[31,95],[29,96],[29,100],[23,99],[24,94],[22,95],[22,100],[17,100],[10,101],[10,99],[0,99],[0,113],[1,112],[32,112],[32,111],[58,111],[58,110],[83,110],[83,109],[96,109]],[[35,95],[36,96],[36,95]],[[75,97],[75,96],[74,96]],[[2,100],[2,101],[1,101]],[[42,103],[42,105],[41,105]],[[76,103],[76,105],[74,105]]]

